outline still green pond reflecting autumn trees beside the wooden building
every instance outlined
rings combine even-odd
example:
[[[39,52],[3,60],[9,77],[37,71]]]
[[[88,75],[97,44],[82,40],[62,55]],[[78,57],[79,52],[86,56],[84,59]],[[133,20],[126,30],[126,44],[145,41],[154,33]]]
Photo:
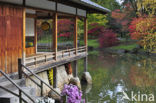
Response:
[[[88,69],[93,85],[82,85],[86,103],[156,103],[155,57],[99,51],[88,56]]]

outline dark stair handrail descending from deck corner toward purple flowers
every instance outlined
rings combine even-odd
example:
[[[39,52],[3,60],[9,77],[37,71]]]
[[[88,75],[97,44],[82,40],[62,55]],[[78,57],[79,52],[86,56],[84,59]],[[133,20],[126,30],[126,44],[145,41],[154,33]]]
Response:
[[[36,83],[32,78],[30,80],[32,80],[37,86],[39,86],[41,88],[41,96],[43,96],[43,84],[45,84],[47,87],[49,87],[52,91],[54,91],[58,96],[61,97],[61,95],[56,92],[50,85],[48,85],[46,82],[44,82],[38,75],[36,75],[35,73],[33,73],[28,67],[26,67],[25,65],[21,64],[22,67],[24,67],[27,71],[29,71],[31,73],[31,75],[35,76],[38,80],[40,80],[41,85],[39,85],[38,83]],[[26,75],[28,77],[28,75],[22,70],[22,73],[24,75]]]

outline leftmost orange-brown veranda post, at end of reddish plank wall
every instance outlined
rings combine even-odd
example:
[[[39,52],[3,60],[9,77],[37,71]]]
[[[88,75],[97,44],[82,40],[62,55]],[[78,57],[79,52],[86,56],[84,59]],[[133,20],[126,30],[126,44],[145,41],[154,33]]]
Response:
[[[26,9],[23,8],[23,36],[22,36],[22,63],[25,65],[25,32],[26,32]]]

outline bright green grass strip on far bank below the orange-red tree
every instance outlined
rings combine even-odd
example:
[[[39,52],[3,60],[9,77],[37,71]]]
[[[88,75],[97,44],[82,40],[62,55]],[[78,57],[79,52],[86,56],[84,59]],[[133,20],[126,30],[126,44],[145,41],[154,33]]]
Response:
[[[110,49],[113,49],[113,50],[120,50],[120,49],[124,49],[124,50],[133,50],[134,48],[137,48],[137,44],[136,43],[133,43],[133,44],[120,44],[118,46],[113,46],[111,47]]]

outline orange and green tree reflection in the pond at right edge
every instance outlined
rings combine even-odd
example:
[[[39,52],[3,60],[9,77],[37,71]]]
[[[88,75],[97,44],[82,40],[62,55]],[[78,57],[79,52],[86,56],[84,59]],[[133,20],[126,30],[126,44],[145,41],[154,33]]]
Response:
[[[156,75],[154,65],[151,59],[145,59],[137,66],[131,66],[129,78],[132,85],[142,88],[154,87],[156,84]]]

